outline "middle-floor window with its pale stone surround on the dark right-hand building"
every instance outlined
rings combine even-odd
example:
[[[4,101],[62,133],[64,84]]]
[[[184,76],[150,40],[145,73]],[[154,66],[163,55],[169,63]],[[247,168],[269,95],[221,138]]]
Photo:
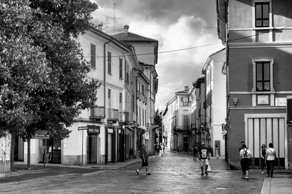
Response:
[[[253,92],[272,92],[273,58],[253,58]]]

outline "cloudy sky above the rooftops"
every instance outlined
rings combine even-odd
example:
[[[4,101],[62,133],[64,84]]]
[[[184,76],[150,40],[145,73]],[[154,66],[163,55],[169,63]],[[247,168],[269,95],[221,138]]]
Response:
[[[175,92],[192,87],[192,82],[203,77],[208,56],[224,48],[218,39],[215,0],[91,1],[99,6],[92,13],[92,22],[102,22],[103,32],[117,34],[128,25],[129,32],[159,41],[155,101],[159,112],[165,110]],[[120,19],[114,21],[113,17]],[[179,49],[185,50],[173,51]]]

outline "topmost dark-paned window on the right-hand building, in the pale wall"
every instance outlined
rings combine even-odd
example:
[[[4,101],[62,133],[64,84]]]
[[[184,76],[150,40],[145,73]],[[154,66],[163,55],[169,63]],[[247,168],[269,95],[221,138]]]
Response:
[[[255,3],[256,27],[269,27],[269,2]]]

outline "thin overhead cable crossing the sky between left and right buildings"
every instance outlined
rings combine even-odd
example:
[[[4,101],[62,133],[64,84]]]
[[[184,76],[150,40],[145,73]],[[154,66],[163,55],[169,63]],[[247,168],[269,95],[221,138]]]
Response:
[[[240,39],[244,39],[244,38],[258,36],[258,35],[261,35],[261,34],[270,33],[270,32],[273,32],[273,31],[282,30],[282,29],[289,28],[289,27],[292,27],[292,26],[287,26],[287,27],[284,27],[284,28],[274,29],[274,30],[268,31],[268,32],[263,32],[263,33],[259,33],[259,34],[255,34],[255,35],[245,36],[245,37],[242,37],[242,38],[236,38],[236,39],[233,39],[233,40],[222,41],[222,42],[228,43],[228,42],[231,42],[231,41],[234,41],[234,40],[240,40]],[[174,52],[174,51],[183,51],[183,50],[188,50],[188,49],[195,49],[195,48],[200,48],[200,47],[217,45],[217,44],[220,44],[222,42],[212,43],[212,44],[208,44],[208,45],[201,45],[201,46],[197,46],[197,47],[190,47],[190,48],[185,48],[185,49],[177,49],[177,50],[171,50],[171,51],[162,51],[162,52],[158,52],[158,53],[168,53],[168,52]],[[128,55],[128,56],[150,55],[150,54],[155,54],[155,53],[145,53],[145,54],[136,54],[136,55]],[[125,55],[112,56],[112,57],[124,57],[124,56]],[[84,56],[84,57],[90,57],[90,56]],[[104,57],[104,56],[96,56],[96,57],[99,58],[99,57]]]

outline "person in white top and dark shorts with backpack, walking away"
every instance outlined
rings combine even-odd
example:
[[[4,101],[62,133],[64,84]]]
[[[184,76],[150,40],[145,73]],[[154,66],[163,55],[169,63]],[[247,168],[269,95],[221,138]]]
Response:
[[[242,168],[242,179],[244,178],[244,173],[246,173],[246,180],[248,181],[248,170],[249,170],[249,165],[253,164],[253,155],[251,154],[251,151],[246,148],[246,145],[242,145],[242,148],[240,150],[239,157],[241,158],[241,168]]]

